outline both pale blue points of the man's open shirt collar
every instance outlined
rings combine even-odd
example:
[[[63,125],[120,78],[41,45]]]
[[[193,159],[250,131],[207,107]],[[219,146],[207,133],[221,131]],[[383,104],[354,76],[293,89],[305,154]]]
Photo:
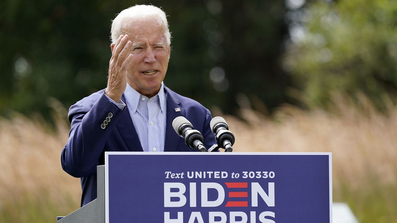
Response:
[[[132,88],[128,84],[128,82],[127,82],[127,88],[125,88],[125,91],[124,91],[124,96],[125,96],[125,100],[126,100],[128,106],[130,107],[131,111],[133,111],[133,112],[137,111],[139,100],[142,97],[144,97],[137,90]],[[166,111],[166,107],[165,107],[164,83],[163,82],[161,82],[160,90],[153,97],[158,97],[158,99],[159,99],[158,101],[160,103],[160,109],[164,113]]]

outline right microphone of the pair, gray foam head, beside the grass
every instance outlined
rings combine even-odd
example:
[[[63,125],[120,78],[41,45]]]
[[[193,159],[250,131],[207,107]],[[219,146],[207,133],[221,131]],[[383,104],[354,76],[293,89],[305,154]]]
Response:
[[[220,116],[212,118],[210,127],[216,137],[216,143],[224,148],[225,152],[231,152],[233,150],[231,146],[234,144],[235,138],[233,133],[229,131],[229,126],[225,119]]]

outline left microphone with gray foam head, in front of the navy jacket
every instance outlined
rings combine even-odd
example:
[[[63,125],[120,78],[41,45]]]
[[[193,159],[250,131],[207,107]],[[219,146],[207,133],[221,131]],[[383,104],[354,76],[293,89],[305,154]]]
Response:
[[[185,138],[187,146],[200,152],[208,152],[202,143],[204,141],[202,134],[194,130],[193,125],[185,117],[176,117],[172,121],[172,128],[180,137]]]

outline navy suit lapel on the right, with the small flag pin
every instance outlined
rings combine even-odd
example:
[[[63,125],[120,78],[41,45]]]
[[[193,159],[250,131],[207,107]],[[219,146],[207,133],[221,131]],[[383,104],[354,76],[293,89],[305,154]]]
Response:
[[[185,109],[181,107],[181,102],[177,97],[175,97],[169,88],[164,86],[164,90],[166,91],[167,98],[166,140],[164,142],[164,152],[172,152],[176,150],[179,141],[182,139],[172,128],[172,121],[178,116],[185,116]],[[179,108],[180,111],[175,111],[176,108]]]

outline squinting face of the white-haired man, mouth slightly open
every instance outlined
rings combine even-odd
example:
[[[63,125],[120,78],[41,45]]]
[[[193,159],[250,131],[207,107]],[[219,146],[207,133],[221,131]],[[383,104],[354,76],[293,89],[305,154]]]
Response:
[[[128,84],[147,97],[153,97],[159,91],[170,59],[170,46],[160,24],[160,18],[135,20],[133,23],[125,19],[121,26],[121,34],[127,34],[132,43]]]

